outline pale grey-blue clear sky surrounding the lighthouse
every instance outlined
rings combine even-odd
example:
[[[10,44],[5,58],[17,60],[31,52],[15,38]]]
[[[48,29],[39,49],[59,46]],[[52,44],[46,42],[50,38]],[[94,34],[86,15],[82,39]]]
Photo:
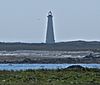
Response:
[[[47,14],[57,42],[100,41],[100,0],[0,0],[0,41],[45,41]]]

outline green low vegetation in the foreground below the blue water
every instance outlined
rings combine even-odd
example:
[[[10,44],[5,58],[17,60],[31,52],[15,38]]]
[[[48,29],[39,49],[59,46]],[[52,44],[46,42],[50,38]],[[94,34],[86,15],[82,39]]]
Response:
[[[100,85],[100,70],[67,68],[0,71],[0,85]]]

